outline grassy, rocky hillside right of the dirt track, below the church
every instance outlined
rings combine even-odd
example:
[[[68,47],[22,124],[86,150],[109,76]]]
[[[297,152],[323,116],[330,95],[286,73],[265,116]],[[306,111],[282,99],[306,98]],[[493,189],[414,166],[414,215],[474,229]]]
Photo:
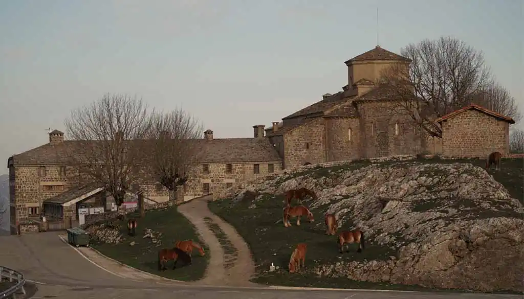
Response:
[[[477,166],[482,162],[377,159],[311,165],[247,185],[210,208],[252,248],[260,264],[258,281],[521,292],[522,198],[513,198],[494,176],[505,178],[511,191],[522,190],[522,160],[505,159],[503,170],[490,173]],[[286,228],[282,194],[301,186],[318,195],[304,203],[315,222],[302,219],[297,226],[291,220]],[[362,229],[366,249],[340,254],[337,237],[324,234],[325,213],[336,215],[339,232]],[[298,242],[308,243],[305,272],[289,274],[287,263]],[[280,269],[268,272],[271,262]]]

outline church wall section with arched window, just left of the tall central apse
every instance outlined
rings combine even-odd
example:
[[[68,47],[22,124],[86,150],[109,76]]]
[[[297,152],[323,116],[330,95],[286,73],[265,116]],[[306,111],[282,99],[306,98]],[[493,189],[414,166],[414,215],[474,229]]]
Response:
[[[350,138],[351,130],[351,138]],[[354,160],[362,157],[360,120],[337,117],[325,119],[327,162]]]

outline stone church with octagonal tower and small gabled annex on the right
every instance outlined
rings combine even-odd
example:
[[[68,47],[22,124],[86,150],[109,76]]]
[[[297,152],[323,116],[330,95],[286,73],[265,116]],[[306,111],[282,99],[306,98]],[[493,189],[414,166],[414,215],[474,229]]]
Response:
[[[443,136],[430,137],[411,118],[395,112],[386,87],[377,87],[383,71],[409,68],[411,60],[379,46],[345,62],[347,85],[321,101],[265,129],[285,168],[307,163],[393,156],[450,154],[483,157],[507,153],[508,128],[515,121],[476,105],[436,119]],[[461,129],[457,129],[457,128]]]

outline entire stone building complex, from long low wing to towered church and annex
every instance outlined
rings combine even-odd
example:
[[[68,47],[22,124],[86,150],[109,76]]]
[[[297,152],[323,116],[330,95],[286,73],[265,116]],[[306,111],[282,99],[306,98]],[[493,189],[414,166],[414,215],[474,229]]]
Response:
[[[376,87],[383,70],[392,65],[408,68],[410,60],[377,46],[345,62],[348,83],[342,91],[325,94],[321,101],[274,122],[269,128],[255,125],[253,138],[213,138],[206,130],[199,139],[204,159],[177,197],[184,201],[260,179],[283,169],[321,163],[396,154],[443,154],[485,157],[492,151],[509,152],[509,117],[470,105],[435,119],[442,138],[429,137],[412,126],[408,116],[392,113],[391,95]],[[80,207],[108,209],[112,199],[96,185],[72,180],[73,167],[63,161],[75,141],[64,140],[61,131],[49,134],[49,143],[8,159],[10,219],[12,232],[18,223],[41,215],[79,219]],[[147,181],[134,170],[133,190],[147,203],[168,200],[168,191]],[[136,201],[129,192],[126,201]],[[104,198],[104,200],[102,200]]]

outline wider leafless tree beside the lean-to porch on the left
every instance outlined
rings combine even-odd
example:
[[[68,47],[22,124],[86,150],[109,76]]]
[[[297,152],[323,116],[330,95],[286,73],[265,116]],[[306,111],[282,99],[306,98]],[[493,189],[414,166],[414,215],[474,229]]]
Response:
[[[67,159],[79,167],[78,182],[105,187],[119,206],[130,190],[133,172],[143,165],[145,137],[151,128],[147,106],[136,97],[104,95],[99,101],[73,110],[65,121],[76,140]]]

